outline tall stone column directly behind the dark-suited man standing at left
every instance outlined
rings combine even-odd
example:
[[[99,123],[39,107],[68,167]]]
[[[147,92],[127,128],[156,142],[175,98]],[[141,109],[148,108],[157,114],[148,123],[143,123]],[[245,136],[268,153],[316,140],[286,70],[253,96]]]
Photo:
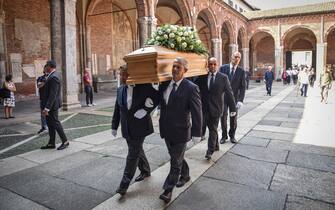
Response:
[[[63,109],[79,107],[76,64],[76,0],[51,0],[51,58],[62,72]]]

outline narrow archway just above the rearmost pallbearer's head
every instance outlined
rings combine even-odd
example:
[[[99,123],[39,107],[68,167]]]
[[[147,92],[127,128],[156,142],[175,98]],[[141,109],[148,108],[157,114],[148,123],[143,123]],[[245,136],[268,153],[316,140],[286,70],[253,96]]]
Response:
[[[231,43],[231,37],[232,37],[232,26],[229,22],[224,22],[221,28],[221,39],[222,39],[222,63],[229,63],[230,61],[230,43]]]

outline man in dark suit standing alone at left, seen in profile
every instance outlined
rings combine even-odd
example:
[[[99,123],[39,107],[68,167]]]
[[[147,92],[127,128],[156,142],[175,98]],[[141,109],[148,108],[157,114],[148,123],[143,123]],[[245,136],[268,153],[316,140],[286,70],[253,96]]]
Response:
[[[46,64],[46,73],[48,74],[45,82],[45,93],[42,98],[43,107],[42,115],[46,116],[47,125],[49,129],[49,143],[41,149],[54,149],[56,140],[56,131],[62,140],[62,144],[57,148],[58,150],[65,149],[69,146],[69,141],[66,138],[62,124],[58,120],[58,110],[62,105],[60,98],[61,92],[61,76],[56,72],[56,62],[50,60]]]

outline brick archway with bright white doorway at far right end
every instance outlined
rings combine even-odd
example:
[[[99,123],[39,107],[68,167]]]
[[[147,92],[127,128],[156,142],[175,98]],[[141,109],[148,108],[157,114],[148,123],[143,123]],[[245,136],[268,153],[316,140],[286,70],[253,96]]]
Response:
[[[285,33],[283,38],[284,67],[308,65],[316,66],[316,36],[308,28],[294,28]]]

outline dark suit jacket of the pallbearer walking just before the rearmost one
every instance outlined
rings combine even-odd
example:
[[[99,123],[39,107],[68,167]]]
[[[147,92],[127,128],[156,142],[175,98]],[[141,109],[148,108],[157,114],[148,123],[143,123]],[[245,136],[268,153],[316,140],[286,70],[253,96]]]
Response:
[[[212,117],[221,117],[223,113],[223,98],[226,96],[226,103],[230,112],[236,111],[233,91],[230,87],[228,77],[217,72],[211,89],[208,89],[208,75],[202,75],[196,81],[200,88],[202,110],[204,114]]]

